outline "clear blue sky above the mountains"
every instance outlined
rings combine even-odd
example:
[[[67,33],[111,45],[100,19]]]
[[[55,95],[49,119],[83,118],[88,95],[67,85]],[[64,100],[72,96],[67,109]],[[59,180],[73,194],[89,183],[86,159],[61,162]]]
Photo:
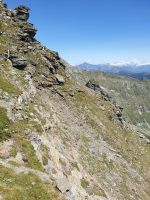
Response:
[[[36,38],[71,64],[150,62],[150,0],[5,0],[31,8]]]

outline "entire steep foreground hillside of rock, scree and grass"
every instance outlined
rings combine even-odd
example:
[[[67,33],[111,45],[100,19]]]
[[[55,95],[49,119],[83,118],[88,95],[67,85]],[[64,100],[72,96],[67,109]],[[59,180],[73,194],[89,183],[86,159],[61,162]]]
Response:
[[[0,2],[0,199],[149,200],[147,141],[66,75],[28,17]]]

